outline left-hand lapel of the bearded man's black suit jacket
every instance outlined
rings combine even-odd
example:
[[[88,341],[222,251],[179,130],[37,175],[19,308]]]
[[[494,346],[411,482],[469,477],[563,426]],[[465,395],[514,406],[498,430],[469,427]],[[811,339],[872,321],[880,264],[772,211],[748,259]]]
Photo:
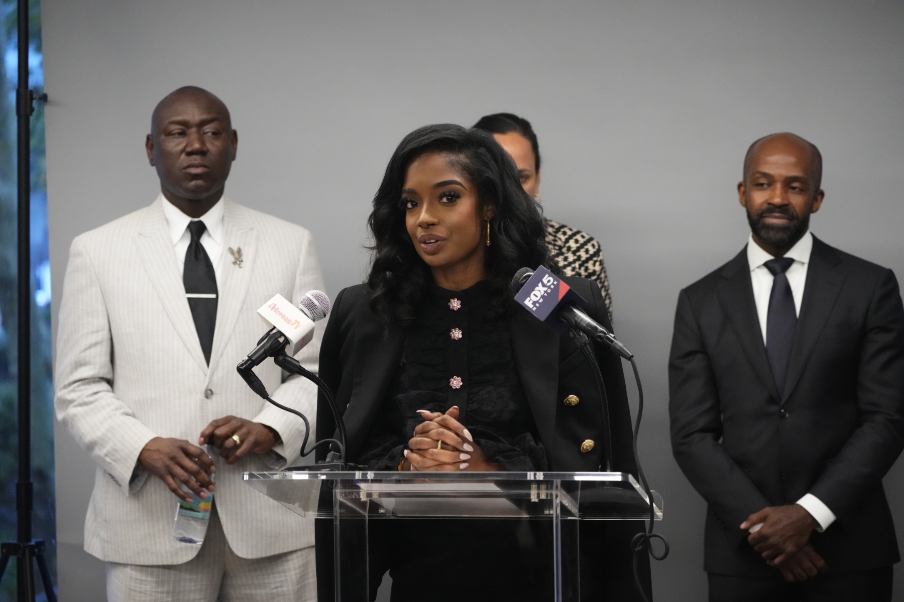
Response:
[[[766,386],[769,394],[778,399],[778,389],[772,378],[772,370],[766,357],[766,346],[763,344],[763,333],[759,328],[746,248],[722,269],[721,276],[716,291],[722,310],[728,316],[731,328],[738,335],[744,355],[747,356],[759,380]]]

